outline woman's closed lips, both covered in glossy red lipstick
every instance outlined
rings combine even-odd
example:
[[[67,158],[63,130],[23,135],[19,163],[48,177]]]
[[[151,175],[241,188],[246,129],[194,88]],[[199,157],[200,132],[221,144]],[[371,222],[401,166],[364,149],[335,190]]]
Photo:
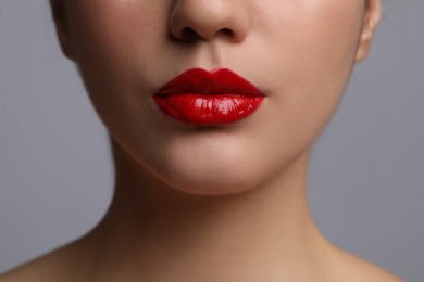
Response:
[[[194,68],[163,86],[153,99],[163,113],[182,123],[215,126],[248,117],[264,94],[227,68]]]

